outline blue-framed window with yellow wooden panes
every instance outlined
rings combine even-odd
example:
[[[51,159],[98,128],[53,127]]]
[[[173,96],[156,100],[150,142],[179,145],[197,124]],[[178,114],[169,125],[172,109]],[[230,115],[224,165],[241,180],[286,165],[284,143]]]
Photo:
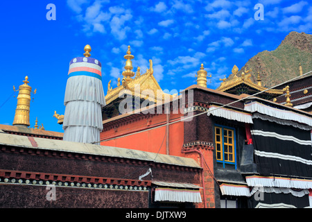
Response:
[[[235,164],[235,129],[215,126],[216,160],[227,164]]]

